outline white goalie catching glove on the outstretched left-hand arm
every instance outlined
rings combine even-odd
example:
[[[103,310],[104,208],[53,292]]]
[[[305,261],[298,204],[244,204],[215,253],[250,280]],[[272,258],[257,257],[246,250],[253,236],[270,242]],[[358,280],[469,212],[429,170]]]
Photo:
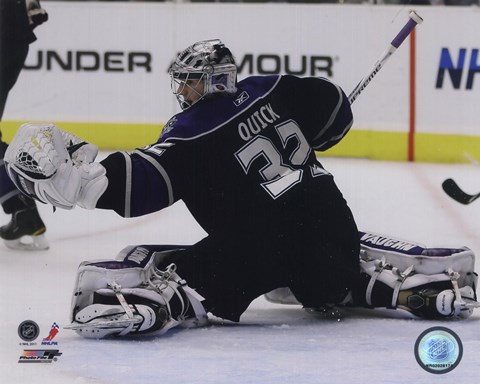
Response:
[[[5,153],[7,173],[25,195],[63,209],[93,209],[108,185],[98,149],[55,124],[24,124]]]

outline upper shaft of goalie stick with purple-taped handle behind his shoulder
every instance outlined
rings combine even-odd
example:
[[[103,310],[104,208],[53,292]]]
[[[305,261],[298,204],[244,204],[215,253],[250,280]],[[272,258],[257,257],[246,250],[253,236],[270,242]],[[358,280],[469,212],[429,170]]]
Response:
[[[350,95],[348,96],[348,101],[350,102],[350,104],[352,104],[357,99],[357,97],[363,92],[363,90],[377,75],[380,69],[382,69],[385,62],[390,58],[390,56],[394,54],[397,48],[400,47],[400,45],[407,38],[407,36],[410,35],[413,29],[418,24],[421,24],[423,22],[423,19],[415,11],[411,11],[408,17],[409,17],[409,20],[401,29],[401,31],[398,32],[397,36],[395,36],[395,38],[391,41],[390,47],[388,47],[388,49],[383,53],[380,59],[375,63],[370,73],[367,76],[365,76],[362,80],[360,80],[360,82],[352,91],[352,93],[350,93]]]

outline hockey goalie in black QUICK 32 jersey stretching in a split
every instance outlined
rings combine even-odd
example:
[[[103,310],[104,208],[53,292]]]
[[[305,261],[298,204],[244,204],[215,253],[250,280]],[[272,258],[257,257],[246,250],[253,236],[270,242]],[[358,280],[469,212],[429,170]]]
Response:
[[[386,307],[425,319],[468,318],[478,305],[470,249],[359,236],[316,156],[353,125],[342,88],[292,75],[238,81],[237,70],[219,39],[184,49],[169,68],[182,111],[155,143],[102,161],[94,145],[55,124],[18,130],[5,164],[27,196],[122,217],[182,200],[208,233],[191,246],[132,246],[115,260],[82,263],[70,328],[102,338],[200,326],[208,313],[239,321],[263,294],[313,310]]]

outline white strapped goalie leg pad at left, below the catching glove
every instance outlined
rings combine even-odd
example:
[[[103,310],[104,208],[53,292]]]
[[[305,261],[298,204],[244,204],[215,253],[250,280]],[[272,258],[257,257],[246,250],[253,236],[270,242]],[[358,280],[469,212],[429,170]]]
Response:
[[[174,264],[157,268],[163,253],[154,252],[143,268],[124,267],[119,260],[82,263],[72,299],[72,323],[66,328],[83,337],[102,338],[160,335],[179,325],[205,325],[204,298],[178,276]]]

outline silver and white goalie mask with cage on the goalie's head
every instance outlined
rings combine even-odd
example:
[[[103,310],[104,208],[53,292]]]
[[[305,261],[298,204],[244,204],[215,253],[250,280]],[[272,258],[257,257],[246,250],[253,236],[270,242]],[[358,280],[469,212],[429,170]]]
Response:
[[[197,42],[181,52],[170,66],[174,95],[185,110],[213,94],[237,91],[237,66],[219,39]]]

